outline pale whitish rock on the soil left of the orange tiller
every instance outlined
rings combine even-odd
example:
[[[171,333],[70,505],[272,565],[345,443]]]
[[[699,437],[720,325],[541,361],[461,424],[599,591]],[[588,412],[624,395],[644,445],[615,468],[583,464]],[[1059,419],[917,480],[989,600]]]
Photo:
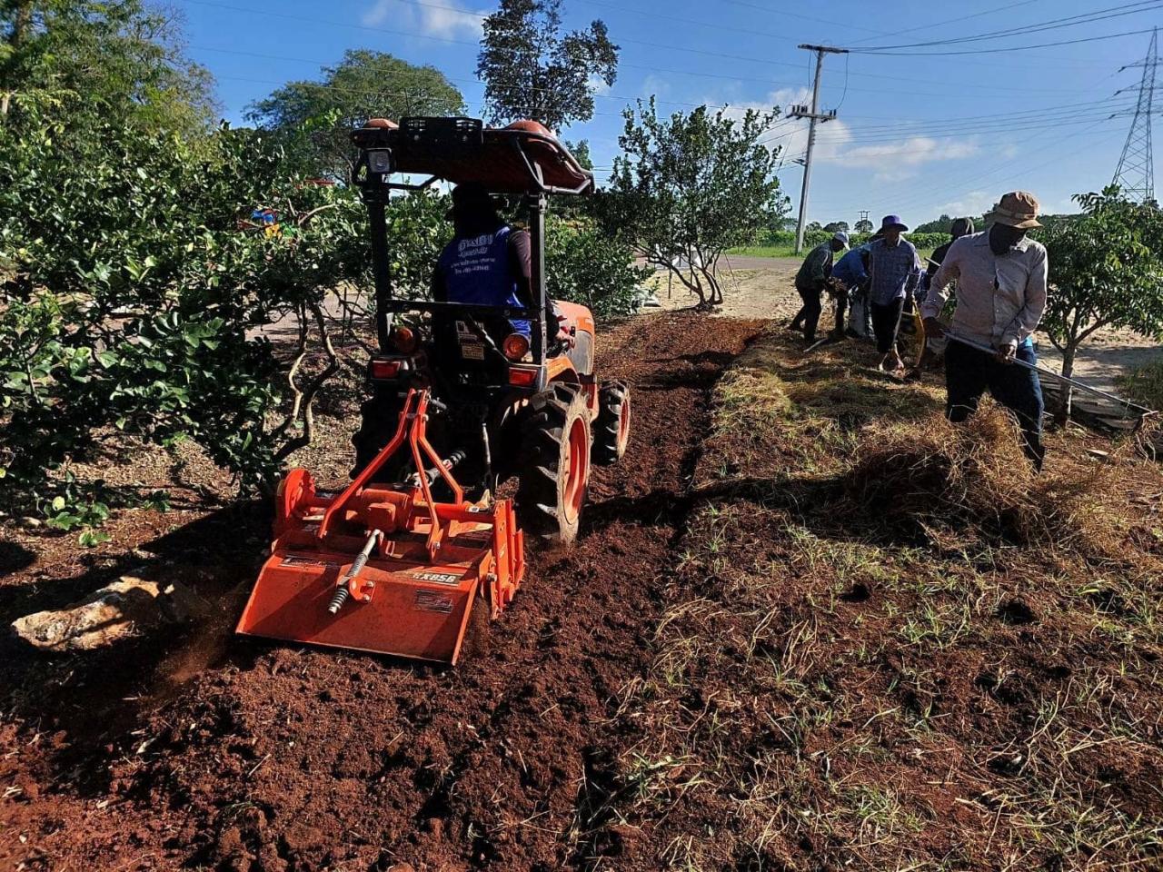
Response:
[[[79,602],[16,619],[12,631],[42,651],[91,651],[206,612],[206,601],[183,585],[122,576]]]

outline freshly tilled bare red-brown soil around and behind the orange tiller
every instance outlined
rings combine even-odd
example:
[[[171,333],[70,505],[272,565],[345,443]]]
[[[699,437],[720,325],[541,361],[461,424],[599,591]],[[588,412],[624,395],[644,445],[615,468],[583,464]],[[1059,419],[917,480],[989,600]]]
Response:
[[[488,653],[455,670],[233,638],[264,512],[183,517],[154,544],[206,567],[186,580],[217,606],[211,627],[0,664],[0,867],[555,870],[629,852],[595,812],[620,748],[611,700],[644,667],[711,387],[759,329],[661,315],[605,338],[604,377],[634,391],[630,450],[595,472],[578,545],[530,556]],[[0,617],[40,605],[14,585],[26,572]]]

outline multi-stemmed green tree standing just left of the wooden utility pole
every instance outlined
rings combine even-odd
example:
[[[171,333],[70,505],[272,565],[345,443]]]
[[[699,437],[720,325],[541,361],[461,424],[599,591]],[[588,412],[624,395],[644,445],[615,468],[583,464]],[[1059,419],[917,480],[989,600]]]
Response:
[[[761,144],[775,113],[735,119],[704,106],[668,119],[651,100],[625,116],[607,222],[697,295],[700,308],[722,302],[719,257],[754,243],[787,208],[775,176],[778,150]]]

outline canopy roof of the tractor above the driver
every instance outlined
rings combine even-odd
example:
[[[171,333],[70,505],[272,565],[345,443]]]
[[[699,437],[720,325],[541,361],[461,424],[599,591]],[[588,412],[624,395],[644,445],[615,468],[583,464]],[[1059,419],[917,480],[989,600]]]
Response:
[[[536,121],[486,128],[478,119],[372,119],[354,130],[356,172],[428,176],[429,184],[476,181],[494,193],[586,194],[593,173]]]

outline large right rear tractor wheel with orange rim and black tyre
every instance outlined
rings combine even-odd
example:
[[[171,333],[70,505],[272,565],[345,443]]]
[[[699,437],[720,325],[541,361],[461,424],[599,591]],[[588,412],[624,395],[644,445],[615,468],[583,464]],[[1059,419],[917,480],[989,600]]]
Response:
[[[552,385],[523,421],[518,517],[531,535],[564,545],[578,536],[590,485],[590,413],[571,385]]]

